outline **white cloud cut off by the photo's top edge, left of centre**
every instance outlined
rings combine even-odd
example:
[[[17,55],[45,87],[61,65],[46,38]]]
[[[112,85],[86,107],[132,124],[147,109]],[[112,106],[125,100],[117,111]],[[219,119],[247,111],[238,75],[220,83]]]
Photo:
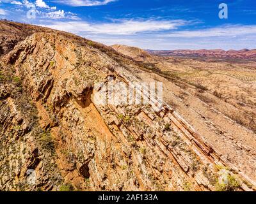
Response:
[[[102,6],[108,3],[118,1],[118,0],[102,0],[102,1],[95,1],[95,0],[60,0],[58,3],[67,4],[70,6]],[[57,2],[57,1],[56,1]]]

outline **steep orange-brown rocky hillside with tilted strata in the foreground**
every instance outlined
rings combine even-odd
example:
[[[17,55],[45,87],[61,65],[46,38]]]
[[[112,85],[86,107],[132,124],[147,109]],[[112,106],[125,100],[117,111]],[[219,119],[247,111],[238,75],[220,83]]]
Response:
[[[134,73],[147,64],[72,34],[41,31],[1,57],[0,190],[255,189],[170,106],[95,101],[102,93],[95,82],[138,82]]]

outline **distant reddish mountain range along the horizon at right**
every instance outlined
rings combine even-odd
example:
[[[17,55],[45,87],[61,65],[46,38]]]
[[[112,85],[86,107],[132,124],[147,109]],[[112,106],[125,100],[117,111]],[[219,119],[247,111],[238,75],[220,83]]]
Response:
[[[256,49],[248,50],[147,50],[150,54],[174,57],[212,57],[256,60]]]

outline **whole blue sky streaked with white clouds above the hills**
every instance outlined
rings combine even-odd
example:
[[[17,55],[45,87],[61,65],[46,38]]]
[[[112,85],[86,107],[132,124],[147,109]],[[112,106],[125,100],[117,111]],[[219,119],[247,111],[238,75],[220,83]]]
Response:
[[[228,5],[220,19],[219,4]],[[256,48],[255,0],[0,0],[0,18],[145,49]]]

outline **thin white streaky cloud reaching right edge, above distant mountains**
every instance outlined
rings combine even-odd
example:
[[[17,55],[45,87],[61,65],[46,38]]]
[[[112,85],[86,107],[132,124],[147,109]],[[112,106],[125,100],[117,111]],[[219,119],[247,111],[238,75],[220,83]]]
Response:
[[[256,34],[256,25],[224,25],[209,29],[175,31],[168,34],[162,34],[165,37],[180,38],[202,38],[202,37],[223,37],[223,36],[241,36],[245,34]]]

